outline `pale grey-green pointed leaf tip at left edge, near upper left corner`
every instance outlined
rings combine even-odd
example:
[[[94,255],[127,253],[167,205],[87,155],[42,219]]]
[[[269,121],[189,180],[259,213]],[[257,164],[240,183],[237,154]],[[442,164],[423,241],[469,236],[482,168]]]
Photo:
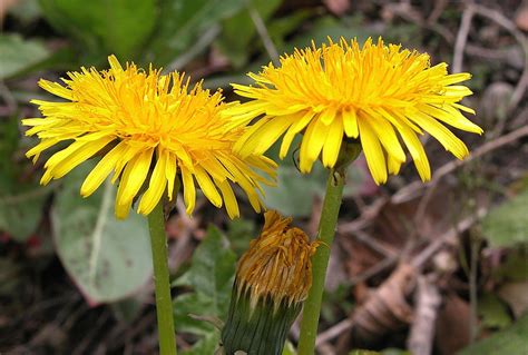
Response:
[[[47,59],[49,50],[38,40],[0,34],[0,79],[10,78]]]

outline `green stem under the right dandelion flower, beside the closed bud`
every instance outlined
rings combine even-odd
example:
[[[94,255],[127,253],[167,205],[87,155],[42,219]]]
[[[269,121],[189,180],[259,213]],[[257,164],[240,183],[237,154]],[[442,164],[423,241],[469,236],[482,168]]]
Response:
[[[312,288],[310,288],[309,296],[304,302],[301,337],[299,339],[299,355],[314,354],[324,279],[329,266],[330,248],[335,235],[335,226],[338,224],[338,215],[343,196],[344,180],[344,169],[342,169],[341,172],[333,169],[330,171],[323,210],[319,221],[317,240],[321,241],[321,246],[312,257]]]

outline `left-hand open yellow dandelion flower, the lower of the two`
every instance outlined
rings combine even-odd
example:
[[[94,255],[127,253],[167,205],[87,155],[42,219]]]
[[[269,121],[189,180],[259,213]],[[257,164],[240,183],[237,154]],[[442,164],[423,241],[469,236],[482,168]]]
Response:
[[[56,145],[68,146],[53,154],[45,165],[41,184],[58,179],[79,164],[99,154],[102,158],[85,179],[80,194],[91,195],[114,171],[119,179],[116,215],[125,218],[134,199],[140,197],[138,213],[148,215],[164,193],[173,198],[176,175],[180,175],[187,213],[196,199],[196,183],[216,207],[225,204],[228,215],[238,215],[232,184],[242,187],[255,210],[260,211],[261,184],[274,176],[275,164],[262,155],[233,154],[234,142],[246,127],[232,125],[221,115],[226,105],[219,91],[209,93],[197,83],[173,72],[123,68],[116,57],[108,58],[110,69],[81,68],[58,82],[40,80],[39,86],[66,99],[65,102],[32,100],[43,118],[28,118],[27,135],[40,142],[27,152],[33,157]],[[148,184],[147,184],[148,183]],[[147,186],[148,185],[148,186]],[[218,191],[219,190],[219,191]]]

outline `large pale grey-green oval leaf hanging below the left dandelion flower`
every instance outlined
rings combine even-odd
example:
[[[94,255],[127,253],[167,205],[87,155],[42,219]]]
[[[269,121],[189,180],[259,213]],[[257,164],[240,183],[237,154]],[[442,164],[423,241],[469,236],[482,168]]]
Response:
[[[82,198],[79,186],[90,164],[63,178],[51,219],[57,253],[68,274],[90,303],[123,299],[151,275],[146,219],[135,213],[125,220],[114,215],[116,188],[106,181]]]

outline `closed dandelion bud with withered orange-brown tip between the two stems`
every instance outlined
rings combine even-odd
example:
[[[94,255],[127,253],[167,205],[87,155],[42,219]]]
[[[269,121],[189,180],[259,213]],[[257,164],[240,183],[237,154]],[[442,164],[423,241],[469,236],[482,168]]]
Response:
[[[258,238],[236,269],[227,322],[222,332],[226,355],[280,355],[290,327],[312,285],[311,256],[316,243],[291,218],[264,215]]]

